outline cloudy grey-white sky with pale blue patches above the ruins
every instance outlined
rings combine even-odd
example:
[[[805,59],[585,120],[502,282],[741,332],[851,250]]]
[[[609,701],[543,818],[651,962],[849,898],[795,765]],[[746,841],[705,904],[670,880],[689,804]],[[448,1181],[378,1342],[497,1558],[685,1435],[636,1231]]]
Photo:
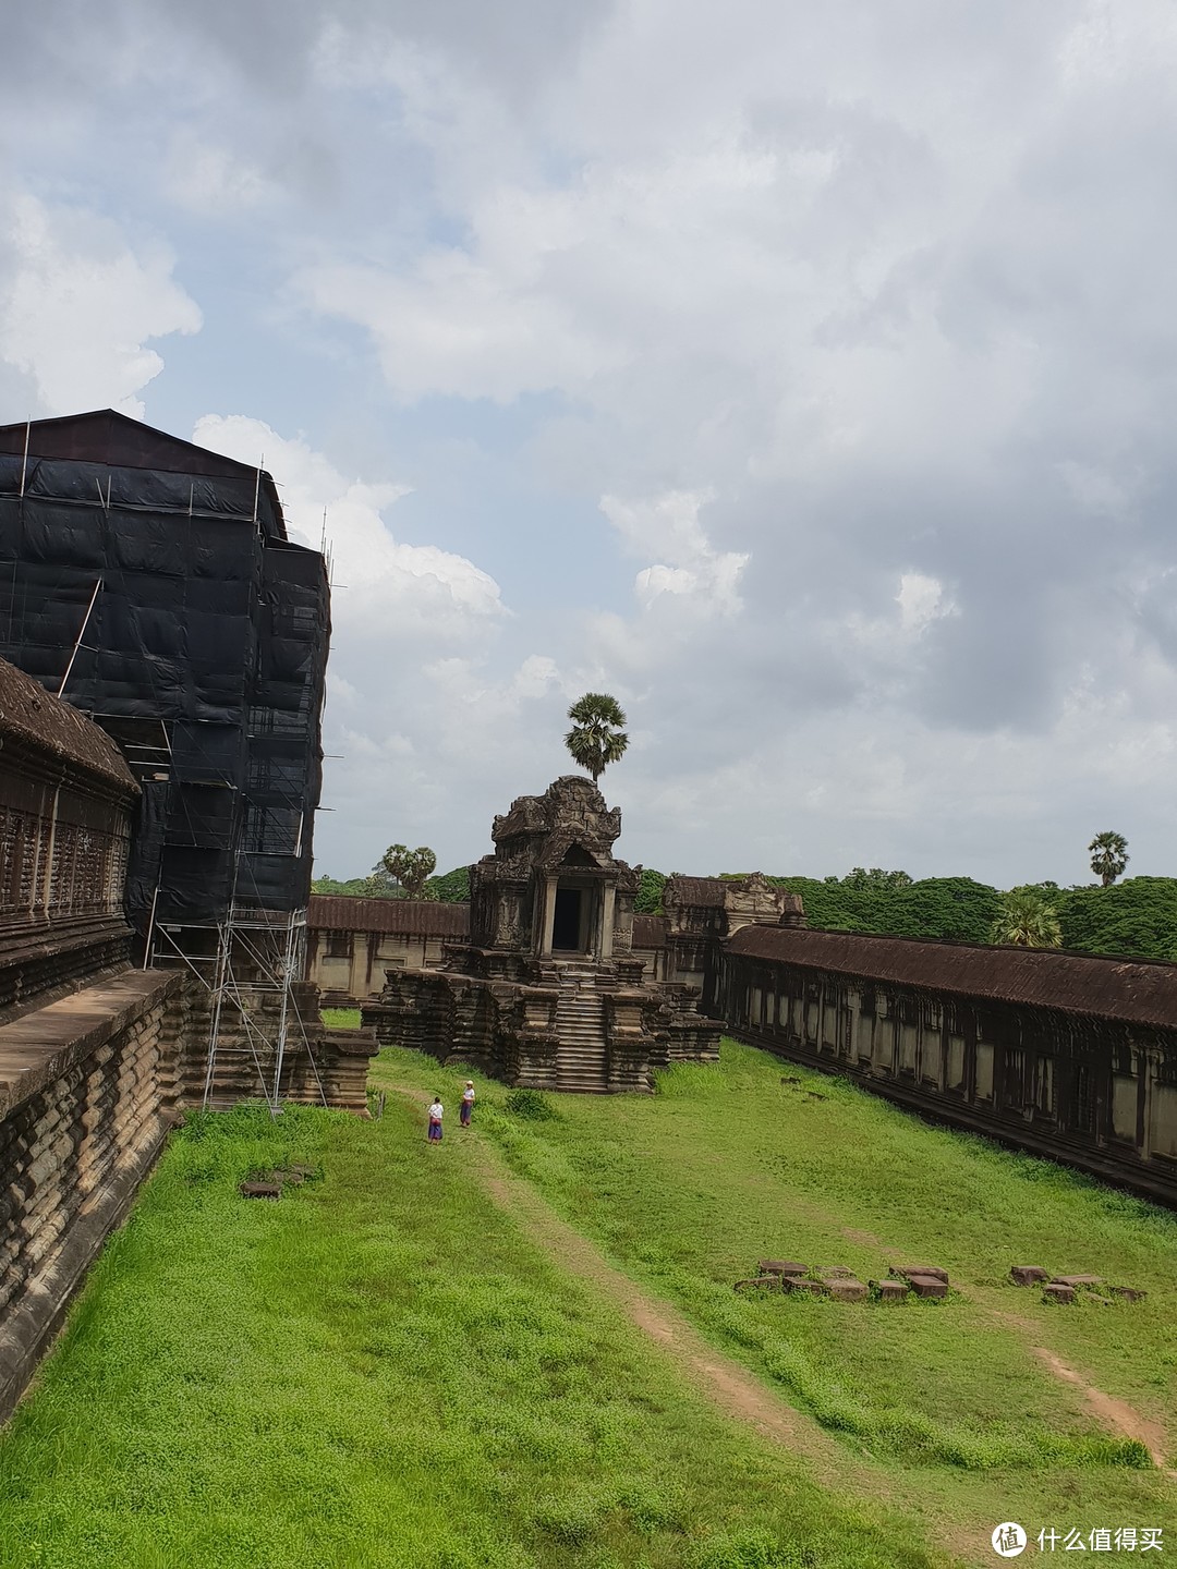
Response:
[[[1174,872],[1171,0],[9,9],[0,422],[326,510],[320,872],[585,689],[632,861]]]

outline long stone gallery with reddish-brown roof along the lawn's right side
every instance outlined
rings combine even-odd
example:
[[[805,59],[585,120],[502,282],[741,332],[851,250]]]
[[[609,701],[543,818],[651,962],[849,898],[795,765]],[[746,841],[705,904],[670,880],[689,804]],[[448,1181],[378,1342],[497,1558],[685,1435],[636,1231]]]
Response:
[[[719,974],[739,1039],[1177,1205],[1177,965],[761,930]]]

